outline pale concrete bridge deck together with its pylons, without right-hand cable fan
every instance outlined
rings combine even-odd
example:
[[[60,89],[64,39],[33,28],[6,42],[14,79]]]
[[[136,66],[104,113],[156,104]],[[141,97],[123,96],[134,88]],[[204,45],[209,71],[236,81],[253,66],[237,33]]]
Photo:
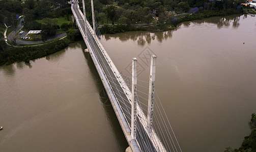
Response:
[[[82,0],[82,6],[83,13],[79,9],[77,2],[75,2],[75,4],[72,3],[72,12],[76,17],[76,22],[83,36],[84,42],[88,47],[92,60],[112,104],[113,110],[117,115],[121,128],[132,151],[164,152],[167,151],[166,148],[170,151],[170,148],[168,147],[168,143],[170,142],[165,141],[165,139],[163,140],[163,145],[159,138],[160,134],[155,130],[157,127],[154,126],[155,124],[153,122],[153,119],[157,119],[154,113],[154,104],[156,103],[157,105],[154,97],[154,93],[156,93],[156,56],[151,56],[148,110],[147,115],[145,115],[143,108],[140,106],[140,103],[142,102],[139,102],[137,96],[137,91],[139,91],[137,90],[137,59],[132,58],[132,89],[130,90],[128,84],[126,84],[122,78],[122,74],[118,71],[115,64],[113,64],[99,41],[98,36],[96,36],[93,0],[91,0],[93,28],[86,18],[84,0]],[[158,109],[159,107],[156,108],[156,111],[158,111]],[[155,118],[153,118],[153,116]]]

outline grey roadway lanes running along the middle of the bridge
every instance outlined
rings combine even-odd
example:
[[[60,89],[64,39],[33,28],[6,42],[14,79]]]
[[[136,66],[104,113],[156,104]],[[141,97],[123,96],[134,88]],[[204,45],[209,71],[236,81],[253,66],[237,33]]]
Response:
[[[82,30],[85,31],[84,21],[80,15],[80,13],[78,12],[76,1],[74,1],[73,9],[74,9],[77,17],[79,18],[78,21],[82,26]],[[89,31],[89,29],[87,31]],[[111,85],[112,90],[115,93],[115,95],[121,105],[121,108],[125,114],[128,124],[131,125],[131,104],[128,101],[125,93],[122,91],[122,87],[120,86],[119,82],[117,81],[117,79],[115,77],[115,74],[113,73],[109,64],[107,63],[108,61],[104,58],[104,55],[100,51],[100,48],[98,47],[91,32],[88,32],[88,38],[89,38],[88,40],[90,41],[90,44],[93,48],[93,51],[95,52],[95,54],[98,58],[98,61],[100,62],[100,65],[108,78],[109,84]],[[137,122],[139,122],[138,118],[137,118]],[[139,142],[141,149],[143,151],[155,151],[155,149],[154,149],[152,143],[150,142],[150,139],[147,136],[142,125],[140,123],[137,123],[137,133],[139,133],[139,132],[140,132],[140,134],[137,134],[137,141]],[[149,144],[150,147],[146,147],[145,144]]]

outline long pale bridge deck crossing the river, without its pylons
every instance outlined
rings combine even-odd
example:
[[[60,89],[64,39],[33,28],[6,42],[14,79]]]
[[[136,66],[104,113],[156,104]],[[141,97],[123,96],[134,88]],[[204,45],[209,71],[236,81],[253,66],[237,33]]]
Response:
[[[87,22],[87,37],[85,34],[85,25],[83,14],[76,1],[72,4],[72,12],[76,17],[77,25],[83,36],[90,55],[95,63],[96,69],[100,75],[102,83],[106,89],[113,109],[116,112],[120,125],[126,136],[126,139],[133,151],[166,151],[154,129],[149,136],[147,131],[147,117],[143,109],[137,103],[137,138],[133,140],[130,135],[131,128],[131,91],[120,75],[115,64],[111,61],[104,47],[97,36],[94,36],[91,25]],[[121,91],[122,90],[122,91]],[[145,146],[145,144],[149,146]]]

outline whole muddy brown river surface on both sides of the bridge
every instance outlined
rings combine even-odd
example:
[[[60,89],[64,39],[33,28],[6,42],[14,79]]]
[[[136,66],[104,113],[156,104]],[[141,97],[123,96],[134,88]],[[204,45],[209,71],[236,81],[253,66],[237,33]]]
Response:
[[[156,91],[182,150],[223,151],[241,145],[256,112],[255,38],[256,18],[242,15],[106,34],[101,42],[125,75],[136,57],[138,79],[147,82],[155,54]],[[0,66],[0,151],[125,151],[85,48],[79,41],[30,64]]]

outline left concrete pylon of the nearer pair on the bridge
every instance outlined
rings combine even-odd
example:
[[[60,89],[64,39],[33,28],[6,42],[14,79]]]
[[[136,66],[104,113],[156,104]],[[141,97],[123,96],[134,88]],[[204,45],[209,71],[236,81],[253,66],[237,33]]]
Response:
[[[131,136],[136,139],[137,118],[137,59],[132,58],[132,103],[131,103]]]

